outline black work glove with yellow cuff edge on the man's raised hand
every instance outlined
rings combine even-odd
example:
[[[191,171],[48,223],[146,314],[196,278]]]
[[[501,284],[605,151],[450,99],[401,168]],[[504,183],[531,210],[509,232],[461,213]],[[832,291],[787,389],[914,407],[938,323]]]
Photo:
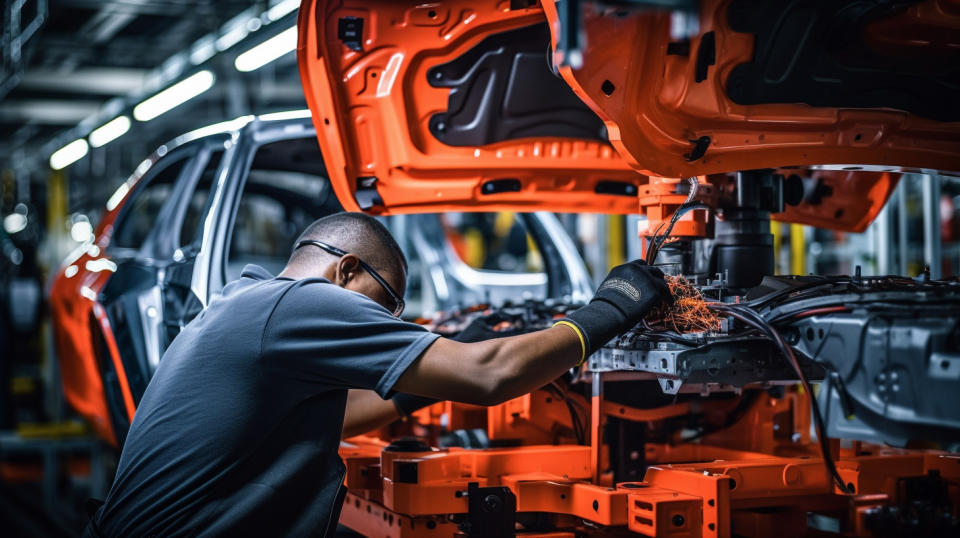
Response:
[[[625,332],[663,301],[672,301],[663,273],[642,261],[632,261],[610,270],[590,304],[558,323],[572,323],[583,337],[586,358],[614,336]]]

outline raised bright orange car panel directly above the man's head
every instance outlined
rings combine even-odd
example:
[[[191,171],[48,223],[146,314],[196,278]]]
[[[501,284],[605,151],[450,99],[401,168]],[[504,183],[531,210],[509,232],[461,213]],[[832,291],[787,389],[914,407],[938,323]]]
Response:
[[[539,6],[511,10],[506,1],[305,0],[300,74],[330,180],[344,207],[374,214],[636,213],[637,186],[646,177],[600,137],[537,134],[544,130],[537,125],[524,136],[521,125],[505,140],[472,145],[446,144],[431,132],[431,119],[436,122],[434,117],[450,108],[452,91],[428,81],[436,74],[431,69],[463,57],[491,35],[533,25],[541,25],[549,39]],[[513,69],[527,69],[530,64],[523,62],[531,60],[537,62],[534,67],[548,69],[546,54],[547,41],[535,59],[527,54]],[[572,99],[582,108],[573,111],[581,114],[579,121],[592,119],[602,130],[600,119],[553,78],[555,88],[570,97],[547,95],[546,102]],[[504,96],[504,109],[511,99]],[[530,108],[530,101],[522,104]],[[549,121],[549,116],[541,111],[539,117]]]

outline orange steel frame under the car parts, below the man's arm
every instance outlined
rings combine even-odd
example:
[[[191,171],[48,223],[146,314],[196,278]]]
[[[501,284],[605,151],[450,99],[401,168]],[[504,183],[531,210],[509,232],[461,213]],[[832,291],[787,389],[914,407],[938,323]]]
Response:
[[[594,374],[593,383],[603,383]],[[577,396],[574,396],[579,398]],[[578,402],[582,403],[582,402]],[[735,402],[734,402],[735,403]],[[548,513],[559,531],[521,536],[805,536],[808,512],[841,522],[845,536],[870,536],[867,509],[898,501],[898,480],[938,472],[960,479],[960,457],[938,451],[900,450],[862,443],[833,443],[843,479],[855,493],[833,484],[810,439],[810,400],[790,389],[782,398],[763,395],[734,426],[708,435],[702,443],[648,444],[651,462],[642,482],[612,481],[602,428],[607,417],[656,422],[686,415],[694,408],[724,412],[730,402],[701,401],[655,409],[635,409],[605,401],[595,391],[590,402],[590,445],[533,444],[470,450],[385,451],[379,438],[358,437],[342,445],[348,495],[340,522],[367,536],[457,535],[450,515],[468,511],[468,484],[505,486],[516,496],[517,512]],[[419,412],[424,424],[447,428],[456,411],[470,406],[446,402]],[[536,391],[487,410],[491,439],[515,438],[534,426],[554,432],[569,426],[558,412],[562,403]],[[451,422],[453,421],[453,422]],[[777,425],[777,426],[775,426]],[[401,467],[405,476],[401,477]],[[411,473],[410,469],[415,471]],[[952,490],[954,513],[960,497]]]

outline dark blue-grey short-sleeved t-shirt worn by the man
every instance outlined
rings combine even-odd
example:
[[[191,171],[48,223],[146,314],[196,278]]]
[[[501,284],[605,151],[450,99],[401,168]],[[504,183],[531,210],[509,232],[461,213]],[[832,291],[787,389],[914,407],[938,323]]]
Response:
[[[438,335],[321,278],[247,266],[174,339],[94,523],[105,536],[303,536],[339,515],[347,389],[392,394]]]

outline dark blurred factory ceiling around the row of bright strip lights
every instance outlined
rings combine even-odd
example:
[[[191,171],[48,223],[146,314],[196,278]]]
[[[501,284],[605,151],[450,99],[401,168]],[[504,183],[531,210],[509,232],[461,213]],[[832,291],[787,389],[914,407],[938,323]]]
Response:
[[[178,114],[142,125],[132,121],[141,145],[229,117],[302,107],[292,54],[269,71],[269,79],[234,68],[237,54],[292,26],[298,5],[6,0],[0,17],[0,169],[43,171],[59,147],[118,115],[130,116],[139,101],[201,69],[217,81],[202,99]]]

